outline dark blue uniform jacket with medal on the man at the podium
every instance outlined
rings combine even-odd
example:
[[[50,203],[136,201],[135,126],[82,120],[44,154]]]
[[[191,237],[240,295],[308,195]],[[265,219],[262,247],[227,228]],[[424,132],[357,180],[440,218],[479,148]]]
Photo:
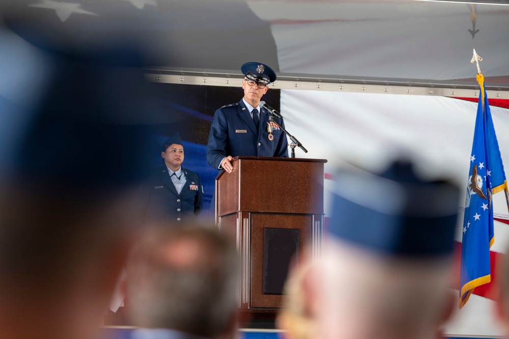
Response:
[[[282,119],[274,119],[285,127]],[[207,144],[207,162],[219,168],[224,157],[287,157],[288,140],[285,132],[271,124],[272,132],[267,130],[269,113],[260,111],[260,127],[254,127],[244,101],[219,108],[214,114]]]

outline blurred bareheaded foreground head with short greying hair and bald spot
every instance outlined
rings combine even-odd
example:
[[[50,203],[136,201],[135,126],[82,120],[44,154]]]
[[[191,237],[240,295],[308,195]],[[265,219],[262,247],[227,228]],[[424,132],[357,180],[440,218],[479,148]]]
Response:
[[[127,265],[127,300],[136,338],[232,337],[238,258],[229,239],[207,228],[147,229]]]

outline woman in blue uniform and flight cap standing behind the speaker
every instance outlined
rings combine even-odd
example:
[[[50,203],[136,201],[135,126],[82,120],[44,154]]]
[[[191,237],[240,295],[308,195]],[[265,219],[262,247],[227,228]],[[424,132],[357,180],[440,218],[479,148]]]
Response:
[[[184,147],[178,133],[163,143],[161,157],[164,165],[147,183],[150,197],[145,224],[192,224],[202,211],[203,188],[200,176],[181,166]]]

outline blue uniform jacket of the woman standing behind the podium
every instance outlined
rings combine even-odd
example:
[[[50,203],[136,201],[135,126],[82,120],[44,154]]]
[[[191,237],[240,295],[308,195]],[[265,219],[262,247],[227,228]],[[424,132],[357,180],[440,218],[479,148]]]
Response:
[[[166,166],[155,170],[147,180],[144,185],[148,199],[145,225],[194,223],[203,206],[202,182],[197,173],[184,168],[182,172],[186,183],[180,194],[177,193]]]

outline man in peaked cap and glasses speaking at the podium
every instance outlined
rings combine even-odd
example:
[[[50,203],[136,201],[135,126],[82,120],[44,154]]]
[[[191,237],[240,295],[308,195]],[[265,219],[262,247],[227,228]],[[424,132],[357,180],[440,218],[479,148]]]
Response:
[[[207,162],[228,173],[233,171],[233,157],[288,157],[288,140],[279,128],[285,127],[282,119],[270,121],[269,113],[260,107],[276,74],[261,63],[246,63],[241,71],[244,98],[215,112],[207,145]]]

